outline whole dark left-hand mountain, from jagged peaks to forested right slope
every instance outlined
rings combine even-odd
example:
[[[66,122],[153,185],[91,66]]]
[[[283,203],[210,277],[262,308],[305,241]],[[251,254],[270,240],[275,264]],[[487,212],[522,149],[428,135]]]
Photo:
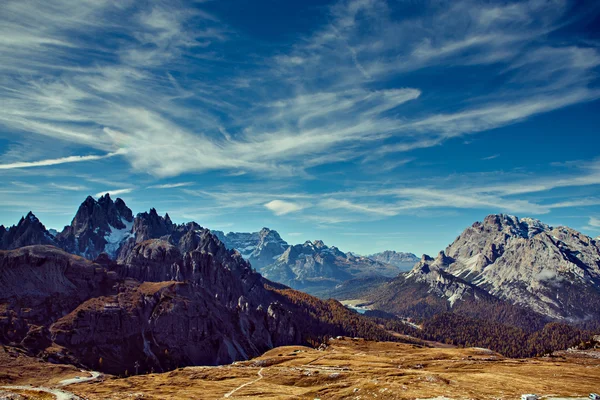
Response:
[[[53,362],[123,374],[328,335],[394,339],[336,301],[263,278],[197,223],[134,217],[108,195],[88,197],[56,236],[32,213],[0,232],[0,342]]]

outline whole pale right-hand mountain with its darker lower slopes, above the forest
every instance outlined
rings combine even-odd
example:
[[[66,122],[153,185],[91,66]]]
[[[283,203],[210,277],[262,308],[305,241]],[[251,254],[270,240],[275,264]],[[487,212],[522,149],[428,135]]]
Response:
[[[528,321],[524,325],[532,319],[597,321],[600,244],[571,228],[490,215],[467,228],[435,260],[424,256],[413,270],[365,297],[394,313],[415,314],[415,307],[421,307],[422,314],[431,316],[464,311],[468,305],[479,310],[470,315],[485,317],[482,303],[491,302],[502,309],[498,317],[518,314],[516,319]],[[415,302],[418,298],[424,300]]]

